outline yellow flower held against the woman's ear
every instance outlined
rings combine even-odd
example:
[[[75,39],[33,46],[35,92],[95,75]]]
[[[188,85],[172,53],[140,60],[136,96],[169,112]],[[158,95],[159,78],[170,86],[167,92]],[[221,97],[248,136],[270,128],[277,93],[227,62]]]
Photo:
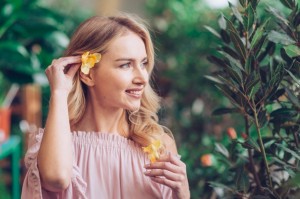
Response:
[[[84,74],[89,74],[90,69],[95,66],[96,63],[98,63],[101,60],[101,54],[100,53],[93,53],[90,54],[90,52],[85,52],[81,56],[81,72]]]

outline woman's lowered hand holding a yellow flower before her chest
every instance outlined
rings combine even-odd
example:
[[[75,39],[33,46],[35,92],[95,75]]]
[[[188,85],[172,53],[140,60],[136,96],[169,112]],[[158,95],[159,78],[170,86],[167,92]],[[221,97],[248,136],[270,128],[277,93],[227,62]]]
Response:
[[[173,198],[190,198],[186,165],[175,155],[168,153],[160,157],[157,162],[145,166],[146,176],[151,180],[166,185],[173,190]]]

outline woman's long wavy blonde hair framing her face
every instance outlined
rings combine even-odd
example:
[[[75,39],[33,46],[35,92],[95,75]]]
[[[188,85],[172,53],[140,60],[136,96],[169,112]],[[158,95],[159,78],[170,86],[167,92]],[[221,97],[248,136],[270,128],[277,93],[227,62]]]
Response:
[[[154,67],[153,43],[145,23],[134,15],[95,16],[87,19],[73,34],[65,56],[81,55],[85,51],[104,54],[112,40],[127,31],[134,32],[143,40],[148,58],[147,71],[151,75]],[[79,72],[77,72],[73,81],[73,88],[68,97],[71,126],[82,118],[86,108],[87,96],[87,87],[81,82]],[[126,119],[132,140],[146,146],[155,139],[161,139],[164,127],[158,124],[157,112],[159,109],[160,98],[151,88],[151,85],[147,84],[139,110],[126,111]]]

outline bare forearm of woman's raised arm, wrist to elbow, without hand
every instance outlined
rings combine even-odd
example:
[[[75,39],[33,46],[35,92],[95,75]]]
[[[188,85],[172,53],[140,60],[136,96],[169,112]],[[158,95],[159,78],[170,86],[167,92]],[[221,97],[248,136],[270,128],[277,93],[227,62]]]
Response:
[[[51,191],[66,188],[71,179],[72,163],[67,94],[54,92],[38,154],[43,186]]]

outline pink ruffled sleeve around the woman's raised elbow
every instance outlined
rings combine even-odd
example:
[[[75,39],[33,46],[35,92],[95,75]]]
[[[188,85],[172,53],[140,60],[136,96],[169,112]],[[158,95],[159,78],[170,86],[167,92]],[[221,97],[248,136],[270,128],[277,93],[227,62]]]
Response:
[[[30,133],[28,139],[28,150],[26,152],[24,161],[27,168],[27,173],[24,178],[22,187],[22,199],[87,199],[85,196],[86,183],[84,182],[79,168],[73,164],[73,175],[70,186],[60,192],[54,193],[43,189],[41,186],[40,174],[37,166],[37,155],[41,146],[43,138],[43,129],[39,129],[38,132]],[[74,150],[73,150],[74,151]],[[74,156],[74,152],[73,152]]]

